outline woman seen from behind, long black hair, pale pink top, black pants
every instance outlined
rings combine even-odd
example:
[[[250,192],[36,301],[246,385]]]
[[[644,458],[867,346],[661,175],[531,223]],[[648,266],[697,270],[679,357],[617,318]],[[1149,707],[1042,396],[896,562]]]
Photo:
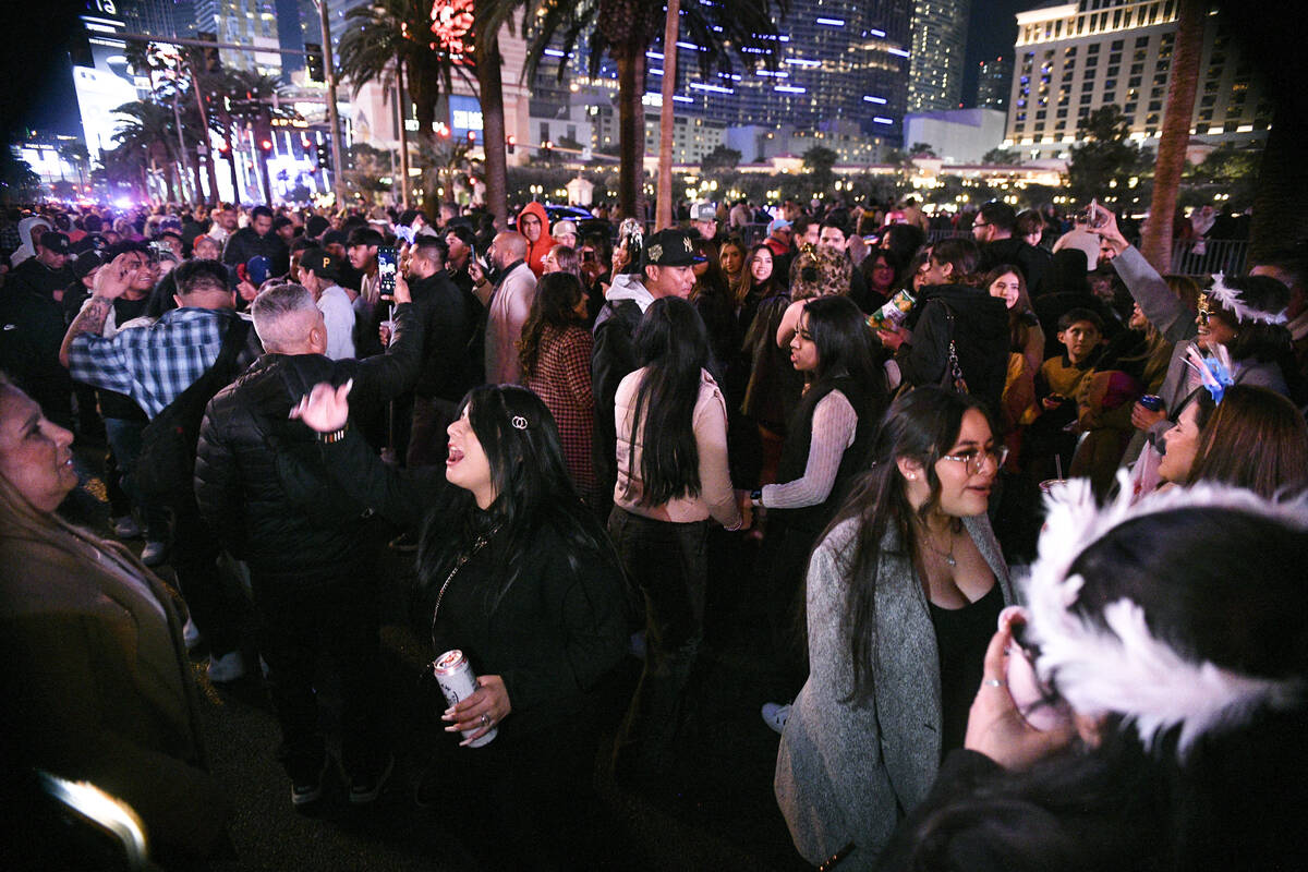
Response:
[[[641,369],[617,387],[617,485],[608,532],[645,600],[645,672],[619,735],[620,778],[666,774],[704,637],[709,519],[739,529],[727,409],[691,303],[654,301],[634,337]]]

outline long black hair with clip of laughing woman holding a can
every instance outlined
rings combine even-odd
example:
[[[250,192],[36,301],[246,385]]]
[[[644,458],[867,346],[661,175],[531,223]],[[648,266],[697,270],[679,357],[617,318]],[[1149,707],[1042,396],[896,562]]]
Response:
[[[559,428],[544,401],[515,384],[475,387],[459,404],[490,464],[496,499],[481,511],[472,493],[449,486],[428,514],[419,545],[421,588],[439,590],[460,554],[479,537],[494,540],[501,584],[492,604],[517,582],[522,557],[543,527],[552,527],[574,553],[596,553],[617,565],[612,544],[573,488]]]

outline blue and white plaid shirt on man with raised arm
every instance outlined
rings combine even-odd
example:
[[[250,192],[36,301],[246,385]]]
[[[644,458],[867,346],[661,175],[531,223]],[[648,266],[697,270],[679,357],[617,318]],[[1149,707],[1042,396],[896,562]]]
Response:
[[[68,371],[78,382],[131,396],[153,418],[213,365],[233,318],[238,315],[230,309],[183,307],[112,339],[81,333],[68,348]]]

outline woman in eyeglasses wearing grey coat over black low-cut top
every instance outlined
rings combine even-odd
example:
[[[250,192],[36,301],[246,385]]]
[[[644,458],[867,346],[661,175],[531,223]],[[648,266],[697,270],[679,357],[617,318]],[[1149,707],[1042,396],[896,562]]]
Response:
[[[1006,450],[973,397],[899,397],[808,563],[808,680],[777,756],[799,852],[872,868],[963,746],[1008,573],[986,520]]]

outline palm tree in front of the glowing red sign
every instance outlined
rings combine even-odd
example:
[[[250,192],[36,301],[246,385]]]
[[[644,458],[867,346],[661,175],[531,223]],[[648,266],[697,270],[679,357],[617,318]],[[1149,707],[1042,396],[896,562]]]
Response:
[[[434,42],[430,0],[377,0],[345,13],[340,37],[340,72],[358,89],[373,80],[388,81],[396,71],[413,101],[421,143],[432,146],[436,107],[451,89],[455,59]],[[428,212],[436,210],[429,200]]]

